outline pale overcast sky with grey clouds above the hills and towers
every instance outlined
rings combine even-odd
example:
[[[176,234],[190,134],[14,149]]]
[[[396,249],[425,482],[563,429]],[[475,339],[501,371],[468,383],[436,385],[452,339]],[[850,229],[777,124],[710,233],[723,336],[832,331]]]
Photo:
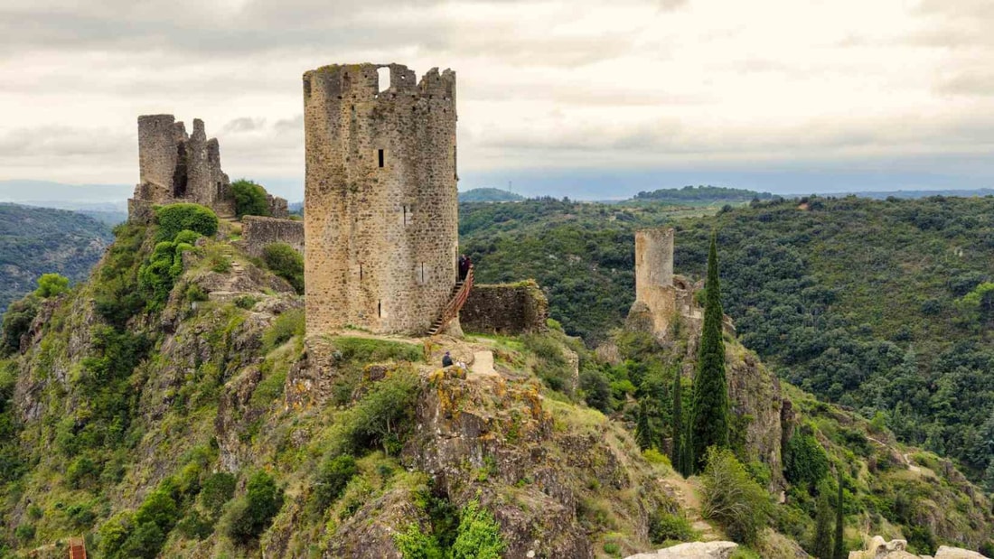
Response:
[[[991,0],[3,0],[0,179],[135,183],[136,117],[168,112],[299,200],[303,71],[397,62],[456,71],[463,190],[989,187],[992,22]]]

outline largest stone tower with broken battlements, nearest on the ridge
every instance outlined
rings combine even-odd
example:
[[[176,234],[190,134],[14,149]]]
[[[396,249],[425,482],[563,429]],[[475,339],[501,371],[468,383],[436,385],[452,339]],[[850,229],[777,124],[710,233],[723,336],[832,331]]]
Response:
[[[424,333],[456,283],[455,72],[333,65],[303,88],[307,331]]]

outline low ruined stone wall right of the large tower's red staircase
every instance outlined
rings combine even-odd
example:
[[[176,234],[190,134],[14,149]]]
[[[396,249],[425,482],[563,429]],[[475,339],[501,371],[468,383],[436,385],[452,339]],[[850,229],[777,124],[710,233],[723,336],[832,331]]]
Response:
[[[505,285],[477,284],[459,313],[464,332],[534,334],[548,330],[549,300],[535,280]]]

